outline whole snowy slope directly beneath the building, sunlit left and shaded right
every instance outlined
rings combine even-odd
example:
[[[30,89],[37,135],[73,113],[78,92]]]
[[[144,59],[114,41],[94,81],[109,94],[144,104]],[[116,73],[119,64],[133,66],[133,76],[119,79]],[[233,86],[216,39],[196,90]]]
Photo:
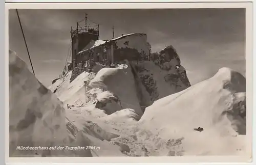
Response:
[[[94,103],[106,114],[130,108],[141,116],[140,101],[131,66],[117,65],[116,68],[103,68],[97,74],[82,72],[70,82],[71,72],[56,80],[49,87],[66,104],[83,106]]]

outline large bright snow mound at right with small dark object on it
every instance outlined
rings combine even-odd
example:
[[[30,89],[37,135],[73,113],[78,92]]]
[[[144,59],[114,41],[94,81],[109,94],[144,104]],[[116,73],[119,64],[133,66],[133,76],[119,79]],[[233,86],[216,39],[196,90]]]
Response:
[[[138,127],[166,141],[182,137],[184,155],[245,154],[245,87],[245,77],[222,68],[205,81],[155,101]]]

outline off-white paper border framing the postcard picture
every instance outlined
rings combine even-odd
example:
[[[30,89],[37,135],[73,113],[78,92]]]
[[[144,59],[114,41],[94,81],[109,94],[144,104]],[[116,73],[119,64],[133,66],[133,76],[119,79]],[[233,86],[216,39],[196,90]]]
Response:
[[[20,2],[12,1],[8,2]],[[12,163],[192,163],[192,162],[250,162],[252,159],[252,3],[243,1],[231,2],[191,2],[186,3],[6,3],[5,4],[5,157],[6,162]],[[37,1],[38,2],[38,1]],[[50,2],[50,1],[48,1]],[[52,1],[51,1],[52,2]],[[59,2],[59,1],[55,1]],[[102,2],[102,1],[101,1]],[[246,130],[248,142],[248,154],[241,156],[181,156],[181,157],[9,157],[9,9],[168,9],[168,8],[246,8]],[[205,163],[204,163],[205,164]]]

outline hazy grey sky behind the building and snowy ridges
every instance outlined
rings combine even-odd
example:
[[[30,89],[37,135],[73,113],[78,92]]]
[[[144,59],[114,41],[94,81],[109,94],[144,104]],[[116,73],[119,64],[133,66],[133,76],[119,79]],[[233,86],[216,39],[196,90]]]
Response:
[[[100,39],[146,33],[152,51],[177,50],[190,83],[229,67],[245,76],[245,9],[19,10],[36,77],[50,86],[65,66],[71,26],[84,18],[100,24]],[[10,49],[31,69],[15,10],[9,12]]]

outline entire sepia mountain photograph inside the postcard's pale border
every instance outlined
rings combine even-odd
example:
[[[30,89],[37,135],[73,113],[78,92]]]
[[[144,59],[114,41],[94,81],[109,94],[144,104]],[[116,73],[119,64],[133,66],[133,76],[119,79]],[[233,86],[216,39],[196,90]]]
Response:
[[[10,157],[251,154],[246,8],[9,9],[8,28]]]

